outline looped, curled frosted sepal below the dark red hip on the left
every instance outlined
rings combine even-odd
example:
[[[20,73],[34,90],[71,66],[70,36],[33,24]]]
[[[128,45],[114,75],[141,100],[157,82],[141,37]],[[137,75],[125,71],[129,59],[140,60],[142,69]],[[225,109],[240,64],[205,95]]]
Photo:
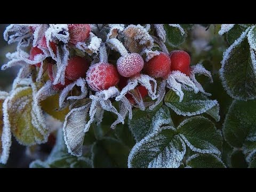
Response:
[[[78,96],[68,96],[69,92],[71,90],[73,90],[74,86],[79,86],[81,87],[81,95],[78,95]],[[61,94],[60,94],[60,98],[59,98],[59,106],[60,108],[63,107],[63,105],[65,104],[65,99],[67,98],[67,100],[70,100],[70,99],[83,99],[86,97],[88,91],[87,91],[87,87],[86,87],[86,81],[84,78],[80,77],[79,79],[77,79],[74,83],[71,83],[69,85],[67,85],[62,91],[61,91]]]

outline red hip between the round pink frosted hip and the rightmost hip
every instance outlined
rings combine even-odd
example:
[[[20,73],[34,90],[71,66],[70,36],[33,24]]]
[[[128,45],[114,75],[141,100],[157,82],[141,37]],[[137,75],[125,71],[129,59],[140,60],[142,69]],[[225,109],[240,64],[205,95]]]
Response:
[[[165,78],[171,71],[171,59],[169,55],[161,52],[145,63],[143,73],[154,78]]]

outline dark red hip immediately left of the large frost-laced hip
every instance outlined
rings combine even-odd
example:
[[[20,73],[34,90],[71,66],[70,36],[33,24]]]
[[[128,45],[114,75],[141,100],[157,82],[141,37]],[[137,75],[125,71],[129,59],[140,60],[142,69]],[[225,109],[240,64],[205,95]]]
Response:
[[[75,56],[68,60],[66,67],[66,78],[76,81],[79,77],[86,77],[86,71],[89,69],[90,63],[86,59]]]

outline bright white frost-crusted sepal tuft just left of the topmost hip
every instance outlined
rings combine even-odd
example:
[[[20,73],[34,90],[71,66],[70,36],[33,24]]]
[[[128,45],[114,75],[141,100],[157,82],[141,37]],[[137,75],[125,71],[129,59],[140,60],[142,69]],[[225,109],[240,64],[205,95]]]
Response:
[[[50,24],[45,31],[46,42],[55,42],[57,39],[63,43],[68,43],[69,33],[67,24]]]

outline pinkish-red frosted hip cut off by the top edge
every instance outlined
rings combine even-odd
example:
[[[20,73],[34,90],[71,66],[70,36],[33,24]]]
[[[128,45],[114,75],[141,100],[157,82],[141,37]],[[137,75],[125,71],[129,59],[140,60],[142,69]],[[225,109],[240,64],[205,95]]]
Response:
[[[68,31],[70,43],[77,44],[84,42],[90,36],[91,26],[89,24],[68,24]]]

